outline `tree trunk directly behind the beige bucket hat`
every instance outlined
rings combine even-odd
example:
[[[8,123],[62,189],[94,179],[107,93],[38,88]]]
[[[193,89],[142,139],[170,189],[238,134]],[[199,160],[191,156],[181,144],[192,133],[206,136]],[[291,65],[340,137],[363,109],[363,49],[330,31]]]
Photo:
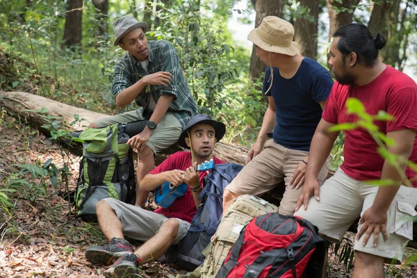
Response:
[[[256,19],[255,28],[261,24],[262,19],[268,17],[268,15],[275,15],[276,17],[282,17],[282,11],[284,8],[284,0],[256,0]],[[250,58],[249,78],[252,81],[259,79],[265,72],[266,65],[256,57],[256,47],[252,48],[252,56]]]

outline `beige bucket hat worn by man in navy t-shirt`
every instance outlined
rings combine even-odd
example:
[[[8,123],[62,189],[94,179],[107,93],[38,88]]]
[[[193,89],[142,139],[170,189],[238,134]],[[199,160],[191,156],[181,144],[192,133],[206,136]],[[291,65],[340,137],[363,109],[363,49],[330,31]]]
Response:
[[[247,39],[266,51],[294,56],[297,42],[293,42],[294,26],[279,17],[265,17],[258,28],[254,28]]]

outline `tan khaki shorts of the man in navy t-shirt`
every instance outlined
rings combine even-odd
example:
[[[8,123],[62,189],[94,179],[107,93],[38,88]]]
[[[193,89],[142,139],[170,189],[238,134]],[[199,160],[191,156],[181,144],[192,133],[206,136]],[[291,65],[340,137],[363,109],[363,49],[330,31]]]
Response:
[[[275,143],[274,140],[268,140],[263,152],[247,163],[225,189],[238,195],[262,195],[284,180],[285,193],[279,206],[279,213],[293,215],[301,189],[292,189],[290,181],[297,165],[308,155],[309,152],[288,149]],[[320,184],[325,181],[328,172],[327,160],[318,175]]]

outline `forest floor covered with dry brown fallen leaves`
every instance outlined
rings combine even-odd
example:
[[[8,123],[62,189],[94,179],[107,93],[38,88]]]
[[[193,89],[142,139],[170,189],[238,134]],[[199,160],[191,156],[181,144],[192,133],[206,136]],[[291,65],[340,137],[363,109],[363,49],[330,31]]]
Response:
[[[15,206],[8,211],[0,208],[0,277],[102,277],[106,268],[91,265],[84,256],[86,247],[107,243],[98,224],[74,217],[74,207],[58,195],[58,190],[65,191],[62,183],[54,188],[48,179],[45,194],[42,180],[22,174],[19,166],[42,166],[53,158],[53,163],[62,167],[65,160],[72,173],[70,189],[74,189],[80,158],[63,155],[59,145],[7,112],[3,120],[0,113],[0,193],[4,188],[17,191],[3,192]],[[406,257],[415,252],[407,248]],[[175,265],[152,262],[142,265],[140,277],[167,277],[179,272],[184,273]],[[327,272],[332,278],[352,276],[332,249]],[[417,263],[386,265],[386,277],[417,277],[416,273]]]

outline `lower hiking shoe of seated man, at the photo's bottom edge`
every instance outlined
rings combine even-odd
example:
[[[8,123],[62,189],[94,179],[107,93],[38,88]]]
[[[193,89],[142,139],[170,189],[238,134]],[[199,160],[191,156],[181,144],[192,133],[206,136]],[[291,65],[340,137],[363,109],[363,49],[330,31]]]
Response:
[[[139,262],[139,257],[133,253],[124,255],[103,272],[103,275],[106,278],[138,277]]]

